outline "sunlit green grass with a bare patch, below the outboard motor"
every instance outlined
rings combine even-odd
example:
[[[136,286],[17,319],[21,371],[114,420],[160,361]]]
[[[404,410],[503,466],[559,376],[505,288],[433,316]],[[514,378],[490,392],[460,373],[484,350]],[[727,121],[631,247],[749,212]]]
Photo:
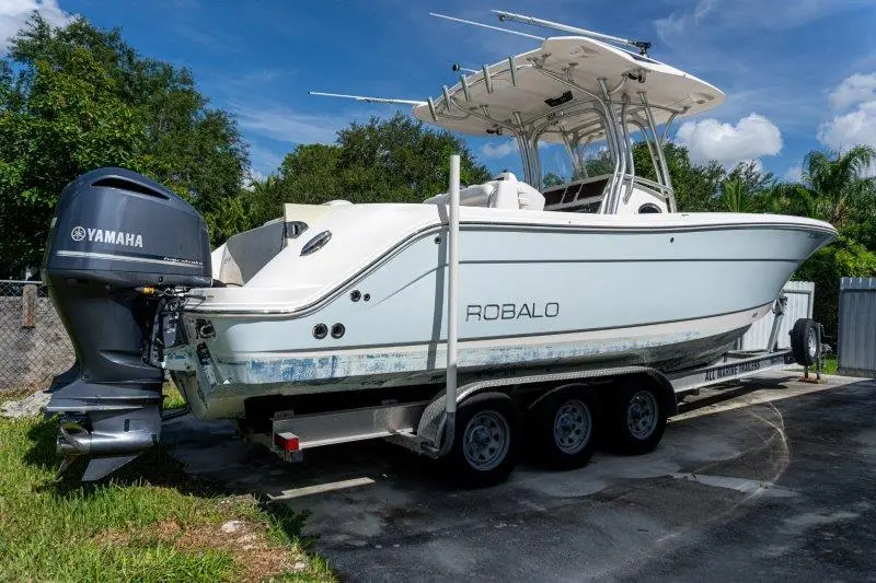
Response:
[[[0,419],[0,581],[334,581],[301,515],[193,481],[160,447],[107,483],[56,478],[55,432]]]

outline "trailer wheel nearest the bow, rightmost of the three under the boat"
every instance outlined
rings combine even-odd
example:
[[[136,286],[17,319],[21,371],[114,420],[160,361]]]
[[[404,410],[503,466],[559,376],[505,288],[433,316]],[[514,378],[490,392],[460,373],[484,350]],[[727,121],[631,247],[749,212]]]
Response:
[[[625,455],[654,451],[666,430],[666,408],[655,387],[641,378],[622,381],[610,400],[610,447]]]

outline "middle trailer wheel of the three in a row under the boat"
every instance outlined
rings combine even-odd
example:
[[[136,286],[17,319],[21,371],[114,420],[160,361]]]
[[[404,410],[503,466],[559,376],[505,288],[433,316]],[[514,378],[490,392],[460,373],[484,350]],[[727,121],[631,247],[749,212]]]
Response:
[[[530,431],[539,460],[553,469],[575,469],[596,448],[596,398],[583,387],[548,395],[530,412]]]

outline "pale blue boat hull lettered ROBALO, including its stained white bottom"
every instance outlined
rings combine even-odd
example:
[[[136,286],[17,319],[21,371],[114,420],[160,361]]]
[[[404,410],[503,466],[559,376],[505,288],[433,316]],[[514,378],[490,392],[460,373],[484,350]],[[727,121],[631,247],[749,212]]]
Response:
[[[797,266],[831,236],[823,228],[771,224],[463,224],[462,381],[565,366],[671,371],[712,361],[769,311]],[[239,417],[254,396],[441,383],[445,240],[441,225],[420,232],[299,310],[260,306],[256,299],[276,298],[276,290],[244,287],[185,312],[189,338],[205,322],[215,330],[184,348],[196,360],[200,347],[201,366],[210,370],[209,378],[182,378],[193,410]],[[319,337],[321,325],[342,325],[343,335]]]

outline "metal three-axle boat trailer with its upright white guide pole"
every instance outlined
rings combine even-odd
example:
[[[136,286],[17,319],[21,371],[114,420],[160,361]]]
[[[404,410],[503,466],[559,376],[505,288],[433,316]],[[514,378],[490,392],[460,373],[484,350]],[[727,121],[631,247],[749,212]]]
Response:
[[[279,410],[273,413],[269,423],[260,423],[263,428],[261,431],[242,427],[244,439],[267,446],[285,460],[300,462],[306,450],[382,438],[431,458],[462,459],[463,463],[456,464],[452,470],[457,478],[462,478],[460,481],[465,486],[489,486],[503,481],[514,464],[502,467],[499,463],[491,467],[495,456],[489,457],[488,452],[500,451],[503,447],[498,443],[502,428],[500,423],[488,416],[479,417],[486,409],[475,406],[475,411],[468,411],[460,421],[468,425],[457,425],[458,408],[465,409],[469,404],[476,404],[479,398],[494,403],[493,407],[498,407],[505,399],[514,404],[512,408],[521,417],[534,418],[535,425],[538,419],[544,417],[540,409],[546,409],[550,413],[548,417],[551,418],[549,424],[553,421],[553,433],[558,448],[557,453],[556,448],[549,445],[548,450],[556,455],[546,457],[556,462],[553,464],[555,467],[568,469],[580,467],[588,460],[592,447],[581,445],[580,439],[576,441],[576,436],[587,433],[587,439],[590,440],[590,433],[595,427],[613,427],[619,442],[615,445],[620,445],[622,453],[639,454],[652,451],[660,441],[667,418],[678,412],[679,397],[685,394],[795,362],[806,366],[807,376],[808,368],[815,365],[820,378],[821,334],[817,323],[806,318],[797,320],[791,333],[792,348],[777,348],[779,330],[784,320],[786,304],[786,298],[781,295],[773,305],[775,317],[766,349],[729,351],[717,362],[706,366],[671,373],[637,365],[581,370],[557,368],[555,372],[543,370],[540,374],[481,380],[458,386],[454,316],[459,305],[459,156],[451,158],[449,194],[449,310],[445,390],[430,400],[390,400],[368,407],[306,415]],[[621,396],[621,403],[618,403],[615,393]],[[552,401],[558,405],[551,407]],[[576,403],[583,408],[576,408]],[[606,418],[600,419],[599,416]],[[647,427],[643,424],[645,421],[649,423]],[[475,423],[473,430],[472,423]],[[636,423],[649,432],[643,430],[637,434],[633,427]],[[533,427],[532,423],[515,425],[515,431],[522,439],[514,436],[514,440],[539,441],[526,432],[527,428]],[[508,425],[505,430],[510,432],[511,427]],[[511,438],[506,435],[505,439]],[[454,443],[454,440],[462,442]],[[568,445],[566,450],[563,448],[563,443]],[[504,446],[509,447],[507,443]],[[480,468],[473,469],[479,460],[484,463]]]

